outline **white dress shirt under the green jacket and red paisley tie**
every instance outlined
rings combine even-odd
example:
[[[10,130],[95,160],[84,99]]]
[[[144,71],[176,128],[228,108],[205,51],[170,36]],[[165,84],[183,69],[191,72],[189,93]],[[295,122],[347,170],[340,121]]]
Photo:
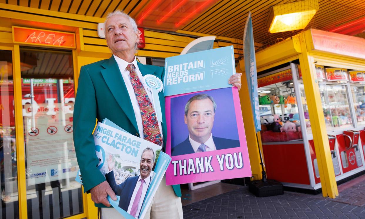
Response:
[[[127,65],[133,64],[135,66],[135,71],[137,73],[137,76],[139,77],[139,80],[141,80],[142,84],[145,83],[145,79],[143,79],[142,73],[138,69],[137,59],[135,57],[134,57],[134,60],[133,60],[132,63],[128,63],[128,62],[124,61],[123,59],[117,57],[116,55],[114,55],[114,58],[115,58],[116,63],[118,64],[120,73],[122,73],[122,77],[123,77],[123,80],[124,80],[124,84],[126,84],[127,91],[128,91],[129,97],[130,97],[131,102],[132,102],[132,107],[133,107],[134,115],[135,115],[135,118],[137,120],[139,137],[143,138],[143,125],[142,125],[141,111],[139,110],[139,105],[138,105],[137,97],[136,97],[136,95],[134,93],[134,89],[133,89],[133,86],[132,86],[132,83],[131,83],[131,78],[129,76],[129,73],[130,72],[126,69],[127,68]],[[148,89],[146,89],[146,88],[145,88],[145,91],[146,91],[147,96],[150,98],[151,103],[153,105],[152,93]],[[158,107],[160,107],[160,106],[158,106]],[[154,105],[153,105],[153,108],[155,108]],[[161,138],[164,139],[164,136],[162,135],[161,121],[158,121],[158,127],[160,128]]]

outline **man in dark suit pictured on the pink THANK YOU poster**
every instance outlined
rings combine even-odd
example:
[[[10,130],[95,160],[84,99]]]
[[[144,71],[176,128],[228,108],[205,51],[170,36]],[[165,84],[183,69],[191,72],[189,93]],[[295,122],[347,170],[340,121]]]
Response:
[[[238,140],[212,135],[216,108],[213,97],[205,93],[197,94],[188,100],[185,105],[184,122],[187,124],[189,136],[173,147],[172,156],[239,147]]]

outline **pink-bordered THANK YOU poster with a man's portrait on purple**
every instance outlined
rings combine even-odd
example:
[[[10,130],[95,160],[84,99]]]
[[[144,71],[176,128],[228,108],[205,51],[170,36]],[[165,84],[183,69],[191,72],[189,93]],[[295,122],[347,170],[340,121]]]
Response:
[[[251,176],[236,87],[166,97],[166,184]]]

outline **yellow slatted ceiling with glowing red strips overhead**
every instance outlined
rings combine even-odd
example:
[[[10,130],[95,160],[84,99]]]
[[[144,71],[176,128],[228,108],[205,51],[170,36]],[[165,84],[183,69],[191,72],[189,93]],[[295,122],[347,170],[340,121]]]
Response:
[[[6,0],[5,2],[95,17],[106,17],[115,9],[121,9],[137,21],[151,7],[155,7],[150,10],[152,12],[149,12],[140,26],[157,30],[179,29],[237,39],[242,39],[247,15],[251,11],[255,42],[266,47],[303,31],[276,34],[268,32],[270,7],[294,1],[299,0]],[[205,9],[201,9],[200,6]],[[319,0],[319,10],[306,29],[345,31],[342,33],[364,38],[365,25],[356,25],[356,21],[365,19],[364,11],[365,0]],[[168,16],[164,18],[165,20],[157,25],[157,20],[166,15]],[[188,16],[191,17],[187,18]],[[187,20],[176,27],[175,24],[184,18]],[[355,22],[354,25],[351,25],[351,22]],[[346,24],[351,26],[351,30],[338,30]]]

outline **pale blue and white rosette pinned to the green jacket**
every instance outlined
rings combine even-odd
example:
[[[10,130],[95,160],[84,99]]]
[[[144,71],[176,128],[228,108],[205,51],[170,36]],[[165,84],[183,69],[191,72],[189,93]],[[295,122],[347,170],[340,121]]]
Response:
[[[158,121],[162,122],[160,99],[158,97],[158,92],[161,92],[162,88],[164,87],[162,81],[160,78],[154,76],[153,74],[146,74],[145,76],[143,76],[143,79],[143,86],[152,93],[153,105],[156,111],[157,119]]]

